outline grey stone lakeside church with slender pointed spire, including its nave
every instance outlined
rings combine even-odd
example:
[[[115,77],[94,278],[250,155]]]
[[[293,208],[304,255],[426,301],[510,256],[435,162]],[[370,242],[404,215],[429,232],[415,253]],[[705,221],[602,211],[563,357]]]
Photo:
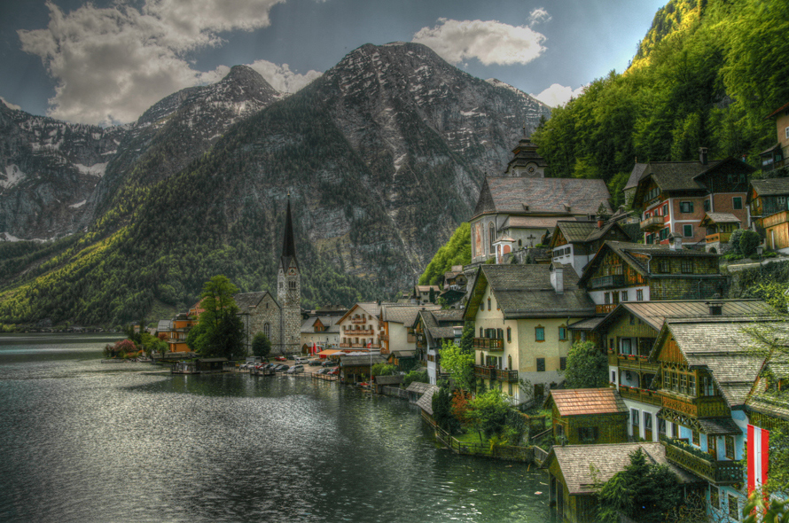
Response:
[[[291,197],[285,209],[285,234],[277,272],[277,298],[268,291],[240,293],[233,297],[244,324],[246,353],[252,354],[252,340],[262,332],[271,341],[271,353],[292,355],[301,352],[301,270],[293,238]]]

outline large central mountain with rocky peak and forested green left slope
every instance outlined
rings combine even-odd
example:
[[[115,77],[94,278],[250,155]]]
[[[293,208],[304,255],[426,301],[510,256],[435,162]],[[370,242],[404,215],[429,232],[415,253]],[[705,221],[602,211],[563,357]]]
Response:
[[[468,219],[485,174],[504,169],[523,126],[548,115],[423,45],[363,45],[298,93],[214,133],[210,150],[177,172],[162,158],[170,130],[112,183],[108,166],[85,234],[47,254],[8,248],[0,321],[136,319],[161,304],[182,307],[215,274],[242,292],[273,290],[289,193],[304,305],[386,297],[411,285]]]

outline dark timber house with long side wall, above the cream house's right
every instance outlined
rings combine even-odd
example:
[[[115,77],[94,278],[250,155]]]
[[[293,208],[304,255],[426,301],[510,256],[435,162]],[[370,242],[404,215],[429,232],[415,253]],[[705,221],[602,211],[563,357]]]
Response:
[[[628,301],[699,300],[723,296],[729,286],[718,255],[670,246],[605,241],[578,285],[589,292],[598,314]]]

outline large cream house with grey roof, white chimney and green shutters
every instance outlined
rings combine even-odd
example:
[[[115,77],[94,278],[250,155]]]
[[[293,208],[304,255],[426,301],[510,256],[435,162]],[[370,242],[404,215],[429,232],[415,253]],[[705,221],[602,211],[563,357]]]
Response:
[[[522,404],[563,380],[567,325],[595,315],[577,281],[575,271],[559,263],[480,265],[464,319],[478,334],[474,374],[485,386]]]

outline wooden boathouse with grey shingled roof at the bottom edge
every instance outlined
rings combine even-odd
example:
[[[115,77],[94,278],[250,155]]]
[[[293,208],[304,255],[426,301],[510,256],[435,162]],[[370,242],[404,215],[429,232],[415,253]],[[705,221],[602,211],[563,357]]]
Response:
[[[554,446],[545,460],[548,469],[548,503],[556,507],[559,521],[593,523],[598,511],[598,488],[630,464],[630,454],[641,449],[647,459],[668,466],[683,485],[699,479],[671,463],[660,443]]]

